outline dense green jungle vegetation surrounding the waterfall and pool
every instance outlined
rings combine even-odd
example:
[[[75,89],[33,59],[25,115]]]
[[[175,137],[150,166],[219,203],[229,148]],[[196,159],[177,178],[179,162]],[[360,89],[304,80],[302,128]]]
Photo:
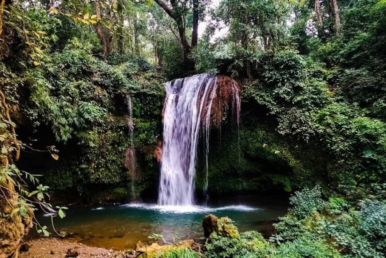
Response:
[[[0,257],[52,233],[38,208],[154,200],[163,83],[208,72],[242,86],[239,137],[213,130],[210,194],[286,193],[290,209],[269,239],[162,255],[384,257],[385,43],[385,0],[1,0]]]

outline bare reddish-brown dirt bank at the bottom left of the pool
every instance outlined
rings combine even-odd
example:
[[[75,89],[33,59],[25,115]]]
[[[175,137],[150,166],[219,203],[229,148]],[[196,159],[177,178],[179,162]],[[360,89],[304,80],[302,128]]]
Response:
[[[27,246],[27,247],[26,247]],[[23,251],[24,249],[27,249]],[[63,258],[63,257],[124,257],[123,253],[113,249],[93,247],[82,243],[58,238],[33,238],[22,246],[21,258]]]

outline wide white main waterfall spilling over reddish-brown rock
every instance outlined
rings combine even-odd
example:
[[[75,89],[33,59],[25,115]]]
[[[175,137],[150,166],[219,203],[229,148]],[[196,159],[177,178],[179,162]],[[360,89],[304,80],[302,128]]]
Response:
[[[160,205],[191,205],[195,202],[195,170],[201,125],[205,134],[208,170],[211,121],[221,123],[224,109],[232,104],[240,119],[240,88],[229,77],[200,74],[165,84],[163,149],[158,190]],[[208,184],[208,177],[206,178]]]

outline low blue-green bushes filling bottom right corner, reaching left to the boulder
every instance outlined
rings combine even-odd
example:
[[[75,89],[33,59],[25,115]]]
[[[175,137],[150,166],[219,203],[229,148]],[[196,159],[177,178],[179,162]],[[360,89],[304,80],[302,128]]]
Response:
[[[320,187],[295,192],[289,213],[265,240],[256,231],[239,238],[212,234],[208,257],[383,257],[384,201],[365,199],[353,206],[342,197],[322,198]]]

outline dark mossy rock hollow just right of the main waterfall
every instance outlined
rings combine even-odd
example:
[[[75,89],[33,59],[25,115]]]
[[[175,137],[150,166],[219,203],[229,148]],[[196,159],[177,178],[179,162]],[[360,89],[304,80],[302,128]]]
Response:
[[[224,129],[219,140],[212,135],[209,152],[209,190],[215,193],[236,191],[291,192],[323,180],[325,167],[317,150],[300,144],[293,146],[267,123],[246,126],[238,137]],[[199,153],[200,158],[200,153]],[[205,186],[205,166],[199,160],[197,189]]]

